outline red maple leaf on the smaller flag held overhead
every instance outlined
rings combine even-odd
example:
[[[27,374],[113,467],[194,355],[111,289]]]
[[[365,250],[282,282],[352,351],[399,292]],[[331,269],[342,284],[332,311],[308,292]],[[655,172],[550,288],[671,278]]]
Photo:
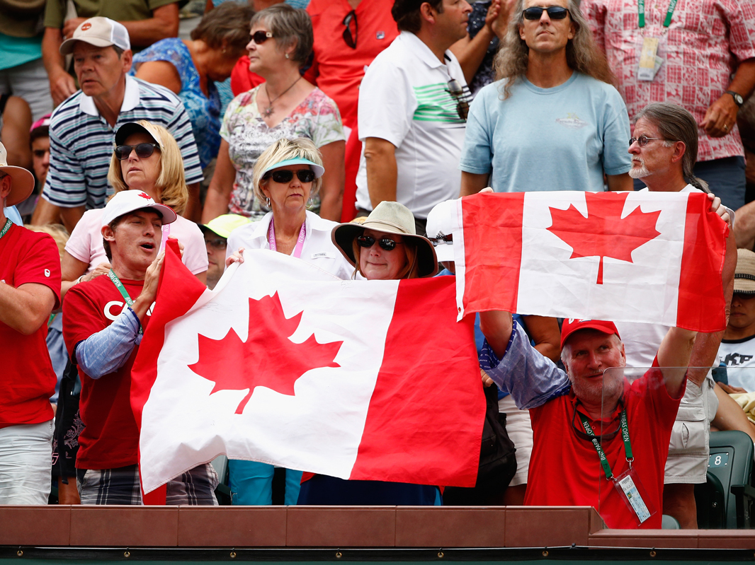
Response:
[[[571,204],[568,209],[550,208],[553,224],[548,231],[572,247],[572,256],[598,256],[597,284],[603,283],[603,258],[632,262],[632,252],[661,235],[655,229],[661,211],[643,212],[637,206],[621,218],[628,192],[584,193],[587,218]]]

